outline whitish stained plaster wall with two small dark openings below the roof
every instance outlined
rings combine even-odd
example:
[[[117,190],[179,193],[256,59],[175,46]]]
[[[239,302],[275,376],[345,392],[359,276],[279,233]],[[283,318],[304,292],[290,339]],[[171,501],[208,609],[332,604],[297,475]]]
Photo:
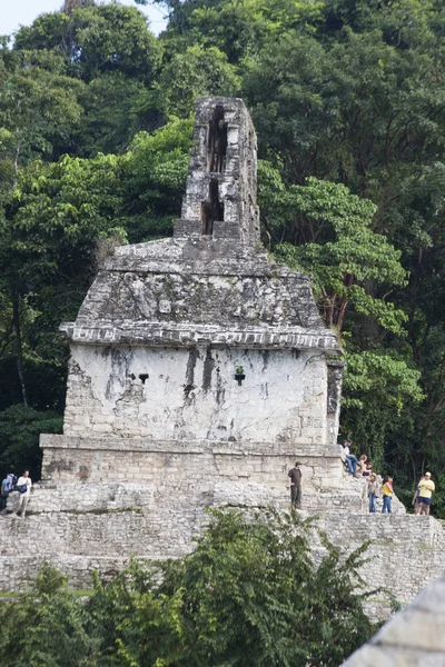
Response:
[[[245,378],[235,378],[236,368]],[[72,346],[65,434],[147,440],[327,439],[323,352]]]

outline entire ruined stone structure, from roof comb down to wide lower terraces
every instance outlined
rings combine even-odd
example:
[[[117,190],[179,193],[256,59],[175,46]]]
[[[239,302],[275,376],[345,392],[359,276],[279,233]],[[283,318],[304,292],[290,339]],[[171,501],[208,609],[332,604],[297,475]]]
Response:
[[[110,577],[131,556],[181,556],[208,505],[288,508],[298,459],[304,510],[320,512],[344,549],[375,539],[364,576],[407,603],[443,570],[443,531],[397,504],[390,517],[367,515],[364,480],[343,470],[342,349],[308,277],[259,242],[256,136],[241,100],[200,99],[192,146],[174,238],[116,249],[62,326],[65,430],[41,436],[43,481],[27,520],[2,521],[0,589],[43,560],[86,587],[93,569]]]

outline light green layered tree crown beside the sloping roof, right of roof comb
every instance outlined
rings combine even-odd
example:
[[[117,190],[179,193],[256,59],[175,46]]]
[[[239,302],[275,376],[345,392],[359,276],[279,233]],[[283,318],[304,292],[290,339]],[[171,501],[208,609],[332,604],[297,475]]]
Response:
[[[373,315],[385,329],[398,334],[404,313],[365,289],[367,281],[393,286],[404,285],[406,278],[400,252],[372,230],[376,207],[340,183],[315,178],[306,186],[291,186],[283,199],[294,216],[299,216],[301,233],[314,240],[278,245],[276,255],[313,277],[326,323],[342,330],[346,310],[353,306],[356,312]],[[322,238],[324,243],[318,240]]]

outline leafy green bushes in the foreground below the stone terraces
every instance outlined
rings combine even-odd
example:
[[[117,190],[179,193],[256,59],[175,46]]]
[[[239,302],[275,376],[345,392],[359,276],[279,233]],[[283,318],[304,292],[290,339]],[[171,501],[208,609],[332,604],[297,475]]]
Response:
[[[315,539],[326,548],[318,567]],[[214,510],[192,554],[135,563],[108,585],[95,577],[88,599],[46,567],[0,608],[1,664],[337,667],[375,630],[357,575],[365,550],[340,561],[296,512],[246,521]]]

